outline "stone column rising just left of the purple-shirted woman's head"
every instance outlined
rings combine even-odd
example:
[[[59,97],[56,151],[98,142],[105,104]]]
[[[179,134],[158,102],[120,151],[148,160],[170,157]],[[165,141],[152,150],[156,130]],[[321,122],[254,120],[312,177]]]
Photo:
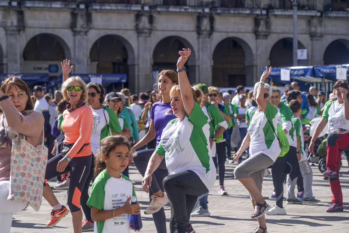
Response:
[[[135,92],[147,92],[154,85],[152,79],[152,54],[150,51],[150,35],[153,31],[153,15],[148,12],[136,14],[136,31],[138,35],[137,67],[135,73]],[[131,89],[131,88],[130,88]]]

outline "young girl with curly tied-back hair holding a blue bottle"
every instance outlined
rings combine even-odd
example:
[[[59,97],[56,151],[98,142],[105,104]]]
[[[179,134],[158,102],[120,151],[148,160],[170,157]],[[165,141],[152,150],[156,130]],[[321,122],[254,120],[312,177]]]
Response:
[[[131,197],[136,196],[131,180],[120,174],[127,167],[131,146],[124,136],[101,140],[95,158],[97,177],[87,201],[95,221],[95,233],[129,232],[131,214],[141,210],[139,204],[130,204]]]

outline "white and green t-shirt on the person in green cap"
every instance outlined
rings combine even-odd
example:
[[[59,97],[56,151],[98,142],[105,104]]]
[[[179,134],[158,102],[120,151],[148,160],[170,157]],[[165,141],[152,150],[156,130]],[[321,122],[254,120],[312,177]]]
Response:
[[[223,116],[220,114],[218,108],[216,108],[213,104],[210,102],[207,102],[205,105],[202,106],[202,111],[207,116],[208,124],[210,126],[210,136],[211,138],[215,134],[215,130],[217,128],[217,125],[222,126],[224,129],[228,129],[228,123],[224,120]],[[213,142],[212,148],[211,148],[211,155],[213,157],[216,157],[216,142]]]

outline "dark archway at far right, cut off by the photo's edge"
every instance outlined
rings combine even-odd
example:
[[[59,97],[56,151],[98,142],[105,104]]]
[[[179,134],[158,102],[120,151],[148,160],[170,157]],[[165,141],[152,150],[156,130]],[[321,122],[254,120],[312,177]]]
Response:
[[[349,41],[337,39],[329,44],[324,52],[324,64],[348,64]]]

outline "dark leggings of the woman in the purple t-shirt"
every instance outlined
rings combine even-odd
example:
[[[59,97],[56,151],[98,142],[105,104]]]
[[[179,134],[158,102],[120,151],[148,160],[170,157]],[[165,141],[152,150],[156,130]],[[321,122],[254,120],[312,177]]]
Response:
[[[144,177],[144,173],[146,173],[150,157],[154,151],[155,149],[137,151],[137,156],[133,158],[134,165],[136,166],[139,173],[141,173],[143,177]],[[151,180],[151,187],[149,188],[149,198],[151,195],[153,195],[154,192],[157,192],[159,190],[164,191],[164,186],[162,184],[162,181],[168,175],[169,175],[169,172],[166,168],[165,160],[163,159],[159,167],[151,175],[152,180]],[[165,216],[164,208],[161,208],[159,212],[154,213],[153,219],[154,219],[154,224],[157,232],[166,233],[166,216]]]

